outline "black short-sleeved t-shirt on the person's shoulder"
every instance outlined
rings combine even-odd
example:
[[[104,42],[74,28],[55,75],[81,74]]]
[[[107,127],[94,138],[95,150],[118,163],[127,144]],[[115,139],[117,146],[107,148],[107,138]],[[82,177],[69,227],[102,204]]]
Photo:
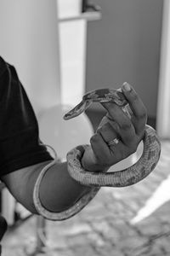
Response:
[[[38,124],[13,66],[0,57],[0,177],[53,160],[39,139]]]

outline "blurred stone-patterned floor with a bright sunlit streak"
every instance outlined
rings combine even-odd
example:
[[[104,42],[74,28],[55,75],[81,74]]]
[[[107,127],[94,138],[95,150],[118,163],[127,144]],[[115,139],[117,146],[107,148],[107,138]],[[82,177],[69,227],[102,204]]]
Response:
[[[169,152],[170,141],[162,141],[161,160],[149,177],[127,188],[100,189],[71,219],[44,223],[32,216],[8,230],[2,255],[169,256]]]

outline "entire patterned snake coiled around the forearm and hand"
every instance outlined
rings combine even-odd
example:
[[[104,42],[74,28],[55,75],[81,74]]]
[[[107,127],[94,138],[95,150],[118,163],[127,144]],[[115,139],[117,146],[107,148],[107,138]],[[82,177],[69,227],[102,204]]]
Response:
[[[68,113],[65,113],[64,119],[69,120],[77,117],[86,111],[94,102],[114,102],[122,108],[125,113],[127,113],[129,118],[131,117],[127,110],[127,99],[123,95],[121,89],[98,89],[85,94],[82,97],[82,101],[78,103],[76,107],[72,108]],[[85,206],[87,206],[101,187],[126,187],[139,183],[139,181],[147,177],[150,172],[155,169],[161,154],[160,140],[156,134],[156,130],[150,125],[145,125],[144,137],[142,140],[144,147],[139,160],[133,164],[133,166],[129,166],[124,170],[117,172],[88,172],[84,170],[81,165],[81,159],[85,150],[87,150],[90,145],[84,144],[79,145],[76,148],[72,148],[66,155],[68,172],[70,176],[77,181],[77,183],[88,186],[90,189],[88,193],[82,195],[82,197],[78,199],[73,206],[62,212],[48,211],[42,206],[39,198],[39,187],[42,177],[48,171],[48,168],[56,164],[58,161],[57,155],[54,152],[54,160],[42,169],[42,172],[37,177],[37,182],[34,187],[33,201],[37,212],[39,212],[44,218],[48,218],[50,220],[64,220],[76,215],[77,212],[80,212]]]

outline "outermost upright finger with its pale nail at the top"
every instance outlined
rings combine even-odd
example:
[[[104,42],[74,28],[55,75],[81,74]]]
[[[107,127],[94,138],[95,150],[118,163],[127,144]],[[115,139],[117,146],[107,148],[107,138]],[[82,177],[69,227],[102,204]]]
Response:
[[[126,96],[127,102],[133,111],[132,122],[136,134],[140,135],[141,131],[144,131],[147,119],[147,112],[144,107],[144,103],[130,84],[124,83],[122,85],[122,92]]]

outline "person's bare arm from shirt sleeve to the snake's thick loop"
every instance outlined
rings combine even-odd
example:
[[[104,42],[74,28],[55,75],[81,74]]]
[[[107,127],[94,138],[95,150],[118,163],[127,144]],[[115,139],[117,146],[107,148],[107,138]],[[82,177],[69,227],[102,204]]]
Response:
[[[47,164],[48,162],[43,162],[29,166],[3,177],[3,182],[16,200],[33,213],[37,213],[32,196],[34,185],[42,168]],[[69,176],[65,162],[48,169],[42,178],[39,195],[43,207],[51,212],[61,212],[71,207],[88,190],[88,187],[82,186]]]

